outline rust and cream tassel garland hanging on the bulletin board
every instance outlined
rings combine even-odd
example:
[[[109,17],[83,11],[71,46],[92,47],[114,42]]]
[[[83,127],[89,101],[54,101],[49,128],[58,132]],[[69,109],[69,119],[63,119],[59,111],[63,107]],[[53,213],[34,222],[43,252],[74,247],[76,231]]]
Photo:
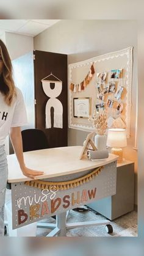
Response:
[[[81,90],[84,90],[85,87],[87,87],[87,85],[90,83],[94,74],[95,74],[95,69],[92,64],[92,66],[90,67],[90,71],[88,72],[87,76],[82,82],[80,82],[79,84],[73,84],[73,82],[71,82],[70,90],[73,92],[81,92]]]

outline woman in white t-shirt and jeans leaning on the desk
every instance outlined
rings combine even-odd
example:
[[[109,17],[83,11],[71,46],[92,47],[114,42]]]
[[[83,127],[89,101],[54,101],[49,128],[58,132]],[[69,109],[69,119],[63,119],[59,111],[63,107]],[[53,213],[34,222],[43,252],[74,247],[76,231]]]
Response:
[[[43,174],[27,168],[24,164],[20,126],[26,123],[23,95],[20,89],[15,87],[12,78],[12,62],[6,46],[0,40],[0,236],[4,235],[4,204],[8,170],[4,141],[9,133],[23,174],[29,178],[36,178]]]

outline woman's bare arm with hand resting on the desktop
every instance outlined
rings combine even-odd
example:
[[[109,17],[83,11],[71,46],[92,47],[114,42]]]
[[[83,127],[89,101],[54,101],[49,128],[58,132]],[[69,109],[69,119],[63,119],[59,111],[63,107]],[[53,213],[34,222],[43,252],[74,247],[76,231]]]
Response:
[[[38,175],[42,175],[43,172],[39,172],[37,170],[31,170],[27,168],[24,164],[23,158],[23,143],[21,137],[21,129],[20,127],[11,127],[10,128],[10,140],[12,141],[13,148],[15,150],[16,157],[20,164],[20,168],[23,174],[29,178],[36,178]]]

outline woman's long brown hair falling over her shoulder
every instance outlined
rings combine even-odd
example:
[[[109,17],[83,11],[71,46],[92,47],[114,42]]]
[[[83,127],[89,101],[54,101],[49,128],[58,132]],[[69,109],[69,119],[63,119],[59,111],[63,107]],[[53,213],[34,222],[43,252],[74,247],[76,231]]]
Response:
[[[10,106],[13,97],[16,95],[16,89],[12,78],[12,62],[2,40],[0,40],[0,53],[3,61],[3,69],[0,75],[0,92],[4,95],[5,103]]]

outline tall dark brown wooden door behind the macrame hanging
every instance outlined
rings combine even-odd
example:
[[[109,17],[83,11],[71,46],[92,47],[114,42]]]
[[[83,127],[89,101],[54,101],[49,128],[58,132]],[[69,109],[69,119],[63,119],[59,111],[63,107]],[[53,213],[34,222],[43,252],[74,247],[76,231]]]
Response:
[[[63,128],[54,127],[54,108],[51,107],[51,128],[46,128],[46,103],[50,99],[42,86],[41,79],[50,75],[62,81],[62,92],[57,99],[62,103]],[[45,132],[49,147],[65,147],[68,141],[68,107],[67,107],[67,55],[34,51],[34,86],[35,86],[35,128]],[[51,82],[54,89],[54,82]]]

